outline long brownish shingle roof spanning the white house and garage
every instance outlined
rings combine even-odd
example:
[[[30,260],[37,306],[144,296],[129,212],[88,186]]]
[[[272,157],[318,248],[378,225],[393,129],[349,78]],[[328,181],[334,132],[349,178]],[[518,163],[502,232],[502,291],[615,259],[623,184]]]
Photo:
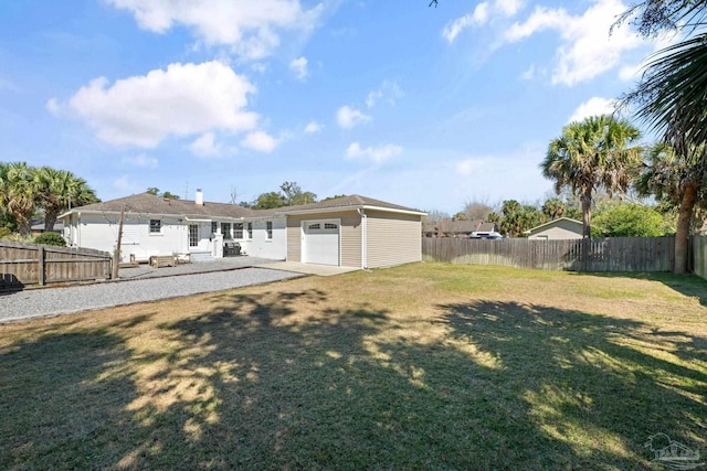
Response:
[[[360,195],[340,196],[331,200],[320,201],[312,204],[300,204],[296,206],[276,207],[273,210],[251,210],[235,204],[210,203],[204,202],[203,205],[197,205],[189,200],[169,200],[156,196],[151,193],[134,194],[131,196],[119,197],[102,203],[88,204],[86,206],[75,207],[65,214],[72,212],[109,212],[119,213],[123,207],[125,211],[133,213],[146,214],[163,214],[186,217],[267,217],[282,216],[296,213],[309,212],[329,212],[336,210],[370,210],[377,208],[382,211],[391,211],[399,213],[425,214],[422,211],[413,210],[398,204],[387,203],[384,201],[374,200]],[[63,216],[63,215],[62,215]],[[60,216],[61,217],[61,216]]]

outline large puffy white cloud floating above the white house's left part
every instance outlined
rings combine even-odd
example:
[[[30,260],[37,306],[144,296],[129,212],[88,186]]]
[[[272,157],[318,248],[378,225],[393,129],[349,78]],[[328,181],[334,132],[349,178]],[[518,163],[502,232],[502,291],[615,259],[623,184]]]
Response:
[[[170,64],[113,85],[96,78],[68,106],[108,143],[154,148],[170,136],[254,129],[257,115],[245,110],[253,92],[220,62]]]

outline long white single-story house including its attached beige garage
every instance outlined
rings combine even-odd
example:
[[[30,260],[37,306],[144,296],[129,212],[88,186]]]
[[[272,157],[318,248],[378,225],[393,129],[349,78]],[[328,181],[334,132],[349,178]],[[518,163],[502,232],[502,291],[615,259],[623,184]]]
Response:
[[[114,251],[120,213],[120,259],[189,255],[220,258],[224,245],[275,260],[378,268],[422,259],[421,211],[351,195],[274,210],[168,200],[143,193],[75,207],[60,217],[70,246]]]

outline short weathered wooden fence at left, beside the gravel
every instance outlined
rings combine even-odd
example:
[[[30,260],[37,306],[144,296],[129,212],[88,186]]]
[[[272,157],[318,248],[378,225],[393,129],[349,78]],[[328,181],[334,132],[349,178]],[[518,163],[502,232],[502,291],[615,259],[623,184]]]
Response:
[[[0,289],[109,279],[110,264],[107,251],[0,242]]]

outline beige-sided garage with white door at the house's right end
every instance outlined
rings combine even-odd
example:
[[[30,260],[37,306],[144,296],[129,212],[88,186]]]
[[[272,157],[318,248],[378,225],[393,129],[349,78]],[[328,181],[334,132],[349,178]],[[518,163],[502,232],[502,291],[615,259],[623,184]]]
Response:
[[[418,210],[352,195],[279,210],[287,218],[287,260],[379,268],[422,260]]]

